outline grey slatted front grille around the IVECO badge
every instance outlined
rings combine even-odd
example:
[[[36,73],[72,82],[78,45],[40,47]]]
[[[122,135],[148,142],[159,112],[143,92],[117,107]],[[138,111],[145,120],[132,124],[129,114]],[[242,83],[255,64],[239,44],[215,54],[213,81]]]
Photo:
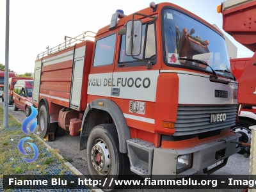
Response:
[[[226,113],[225,122],[210,123],[211,114]],[[237,106],[178,106],[173,136],[198,134],[235,125]]]

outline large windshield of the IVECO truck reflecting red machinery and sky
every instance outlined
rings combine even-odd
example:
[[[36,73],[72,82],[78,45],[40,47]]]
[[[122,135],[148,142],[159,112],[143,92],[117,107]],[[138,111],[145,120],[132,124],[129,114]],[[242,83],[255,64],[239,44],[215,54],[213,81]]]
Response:
[[[165,60],[173,67],[186,67],[193,70],[206,70],[210,67],[188,60],[202,60],[214,70],[230,70],[225,40],[218,33],[198,20],[172,9],[163,12]],[[233,78],[227,71],[216,72]]]

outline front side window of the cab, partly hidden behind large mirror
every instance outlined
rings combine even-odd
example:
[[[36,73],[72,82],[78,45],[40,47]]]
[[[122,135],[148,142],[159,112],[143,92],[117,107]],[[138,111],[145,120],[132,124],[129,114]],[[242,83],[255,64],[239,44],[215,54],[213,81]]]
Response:
[[[136,58],[143,60],[151,59],[156,56],[156,35],[154,23],[143,24],[142,26],[142,38],[141,38],[141,53]],[[125,35],[121,38],[121,47],[119,52],[119,62],[124,63],[127,61],[138,61],[134,60],[131,56],[125,54]]]

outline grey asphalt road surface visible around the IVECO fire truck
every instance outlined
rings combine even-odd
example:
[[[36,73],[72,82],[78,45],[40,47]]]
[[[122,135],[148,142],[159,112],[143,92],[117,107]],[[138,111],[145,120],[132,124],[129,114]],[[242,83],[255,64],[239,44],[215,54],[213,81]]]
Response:
[[[0,105],[3,106],[3,102],[0,102]],[[8,107],[9,113],[15,116],[20,122],[26,118],[25,111],[18,110],[13,111],[12,106]],[[46,141],[54,149],[60,150],[61,156],[64,158],[72,159],[72,165],[77,168],[84,175],[90,175],[87,166],[86,150],[79,150],[79,136],[70,136],[66,133],[64,136],[55,138],[55,141]],[[249,163],[250,158],[244,158],[241,154],[234,154],[234,156],[229,157],[228,163],[226,166],[220,170],[212,173],[214,175],[220,175],[225,177],[225,175],[248,175],[249,174]],[[203,172],[198,172],[202,175]],[[228,177],[228,176],[227,176]],[[241,189],[207,189],[207,191],[241,191]],[[205,191],[205,189],[122,189],[117,191]]]

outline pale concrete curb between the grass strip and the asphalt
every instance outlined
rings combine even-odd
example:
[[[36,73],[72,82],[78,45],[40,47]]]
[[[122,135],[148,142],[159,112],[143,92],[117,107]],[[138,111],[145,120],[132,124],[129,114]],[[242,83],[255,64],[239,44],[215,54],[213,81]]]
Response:
[[[13,116],[11,113],[8,113],[10,114],[13,118],[15,118],[15,120],[17,120],[17,122],[19,122],[20,124],[22,124],[22,122],[20,122],[15,116]],[[40,141],[42,141],[45,145],[45,147],[49,148],[49,150],[53,150],[54,151],[54,148],[52,148],[50,145],[48,145],[47,143],[45,143],[44,140],[42,140],[42,138],[40,138],[38,135],[36,135],[34,132],[32,132],[32,134]],[[57,156],[60,158],[60,159],[64,159],[58,152],[54,151]],[[77,170],[77,168],[75,168],[72,164],[70,164],[69,162],[65,162],[64,163],[70,170],[72,170],[72,172],[74,172],[75,175],[77,175],[77,177],[79,177],[80,179],[87,179],[83,173],[79,172],[79,170]],[[100,188],[97,188],[97,187],[94,187],[93,189],[93,186],[90,186],[88,185],[88,188],[92,191],[95,191],[95,192],[104,192],[102,191],[102,189]]]

